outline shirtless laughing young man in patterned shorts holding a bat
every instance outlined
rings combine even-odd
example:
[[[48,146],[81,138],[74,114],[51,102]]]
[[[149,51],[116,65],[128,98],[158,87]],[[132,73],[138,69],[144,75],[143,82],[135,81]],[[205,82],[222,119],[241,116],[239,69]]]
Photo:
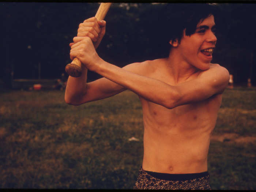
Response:
[[[229,83],[227,69],[210,63],[217,41],[214,16],[208,13],[197,20],[191,35],[184,28],[180,39],[172,38],[169,57],[123,68],[95,51],[105,25],[95,18],[79,25],[70,56],[83,63],[83,73],[69,76],[65,102],[81,105],[133,91],[142,103],[144,121],[143,164],[134,188],[210,189],[210,134]],[[86,83],[87,69],[104,78]]]

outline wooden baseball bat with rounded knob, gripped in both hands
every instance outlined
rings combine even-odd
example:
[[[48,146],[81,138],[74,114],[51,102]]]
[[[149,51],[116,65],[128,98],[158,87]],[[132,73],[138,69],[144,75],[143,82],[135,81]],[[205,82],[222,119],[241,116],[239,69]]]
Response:
[[[109,10],[111,3],[101,3],[95,17],[98,20],[103,20]],[[71,63],[67,64],[65,71],[72,77],[79,77],[82,74],[81,61],[75,58]]]

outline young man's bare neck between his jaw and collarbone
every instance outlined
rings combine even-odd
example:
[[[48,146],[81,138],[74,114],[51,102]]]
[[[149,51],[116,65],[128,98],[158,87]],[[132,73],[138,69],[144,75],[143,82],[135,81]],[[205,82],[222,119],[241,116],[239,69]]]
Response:
[[[199,69],[185,61],[176,49],[170,50],[169,57],[166,58],[166,65],[176,83],[188,79],[199,71]]]

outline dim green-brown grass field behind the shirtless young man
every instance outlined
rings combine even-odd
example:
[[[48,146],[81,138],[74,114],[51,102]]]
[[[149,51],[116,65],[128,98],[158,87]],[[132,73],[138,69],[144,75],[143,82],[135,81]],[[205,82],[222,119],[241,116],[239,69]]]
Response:
[[[256,89],[226,90],[213,134],[256,136],[255,106]],[[0,188],[131,189],[142,165],[142,108],[130,91],[81,106],[64,91],[5,91],[0,122]],[[256,189],[255,143],[212,141],[208,171],[212,189]]]

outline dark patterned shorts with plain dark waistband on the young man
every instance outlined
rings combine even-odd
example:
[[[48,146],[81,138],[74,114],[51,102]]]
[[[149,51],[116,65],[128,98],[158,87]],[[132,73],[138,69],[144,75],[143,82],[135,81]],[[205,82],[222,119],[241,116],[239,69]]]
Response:
[[[211,190],[208,172],[167,174],[145,171],[140,167],[133,189]]]

